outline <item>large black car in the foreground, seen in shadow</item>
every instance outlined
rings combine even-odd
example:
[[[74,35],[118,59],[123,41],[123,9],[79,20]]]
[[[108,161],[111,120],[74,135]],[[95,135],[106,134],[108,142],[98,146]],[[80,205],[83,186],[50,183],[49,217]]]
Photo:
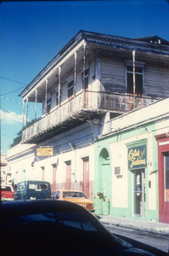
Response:
[[[1,217],[1,253],[6,256],[164,254],[133,247],[112,235],[87,209],[69,201],[3,201]]]

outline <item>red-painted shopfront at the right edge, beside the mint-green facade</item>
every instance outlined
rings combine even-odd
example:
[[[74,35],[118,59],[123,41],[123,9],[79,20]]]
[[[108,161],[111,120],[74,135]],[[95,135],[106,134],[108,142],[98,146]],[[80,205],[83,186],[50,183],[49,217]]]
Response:
[[[159,221],[169,223],[169,138],[158,140]]]

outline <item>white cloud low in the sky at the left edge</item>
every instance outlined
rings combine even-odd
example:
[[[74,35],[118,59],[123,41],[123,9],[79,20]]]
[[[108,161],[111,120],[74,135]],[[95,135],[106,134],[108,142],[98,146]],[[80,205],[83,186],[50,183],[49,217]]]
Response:
[[[18,114],[12,111],[3,112],[3,110],[0,110],[0,119],[3,124],[22,124],[23,116],[22,114]]]

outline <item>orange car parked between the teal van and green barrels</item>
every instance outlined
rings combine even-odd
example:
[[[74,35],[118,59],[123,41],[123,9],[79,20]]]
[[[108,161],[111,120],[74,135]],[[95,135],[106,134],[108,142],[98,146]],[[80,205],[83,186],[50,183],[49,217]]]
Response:
[[[90,212],[94,212],[93,201],[89,200],[87,195],[85,195],[82,191],[60,189],[51,195],[51,199],[71,201],[85,207]]]

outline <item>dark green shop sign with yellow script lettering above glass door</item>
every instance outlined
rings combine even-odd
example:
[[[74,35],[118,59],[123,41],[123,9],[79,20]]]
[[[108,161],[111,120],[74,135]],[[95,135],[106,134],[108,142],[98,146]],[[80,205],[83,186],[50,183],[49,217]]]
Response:
[[[146,145],[128,148],[128,169],[134,170],[147,166]]]

